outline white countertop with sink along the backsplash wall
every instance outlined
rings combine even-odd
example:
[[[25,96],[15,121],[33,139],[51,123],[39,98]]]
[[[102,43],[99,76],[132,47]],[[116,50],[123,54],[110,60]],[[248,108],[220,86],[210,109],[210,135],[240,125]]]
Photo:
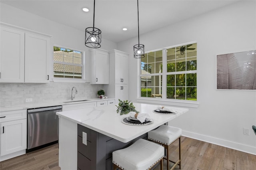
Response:
[[[80,100],[87,100],[87,101],[80,101]],[[63,100],[63,101],[54,101],[54,102],[41,102],[41,103],[32,103],[27,102],[25,104],[20,105],[12,105],[7,107],[0,107],[0,111],[15,111],[15,110],[22,110],[22,109],[32,109],[32,108],[39,108],[39,107],[50,107],[50,106],[60,106],[60,105],[72,105],[76,103],[88,103],[88,102],[97,102],[97,101],[108,101],[108,100],[114,100],[112,98],[107,99],[100,99],[100,98],[75,98],[73,101],[76,102],[70,102],[71,100]],[[69,103],[64,103],[69,102]]]

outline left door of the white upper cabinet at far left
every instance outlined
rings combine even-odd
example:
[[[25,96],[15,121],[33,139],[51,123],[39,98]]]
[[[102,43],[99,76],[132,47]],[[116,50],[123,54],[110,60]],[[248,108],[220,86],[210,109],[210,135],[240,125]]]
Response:
[[[24,82],[25,33],[0,27],[0,82]]]

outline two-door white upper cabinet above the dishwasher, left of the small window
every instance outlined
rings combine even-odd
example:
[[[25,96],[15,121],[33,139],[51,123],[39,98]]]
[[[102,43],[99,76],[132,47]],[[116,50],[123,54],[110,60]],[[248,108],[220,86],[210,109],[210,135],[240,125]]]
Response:
[[[1,26],[1,83],[48,83],[50,36]]]

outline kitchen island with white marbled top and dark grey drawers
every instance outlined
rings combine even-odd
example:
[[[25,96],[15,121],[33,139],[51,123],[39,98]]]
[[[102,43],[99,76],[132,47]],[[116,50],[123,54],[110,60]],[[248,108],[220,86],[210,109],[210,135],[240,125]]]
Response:
[[[157,114],[157,105],[133,103],[140,113],[154,120],[144,126],[121,122],[128,115],[116,113],[115,105],[57,112],[59,116],[59,166],[62,170],[103,170],[112,167],[112,152],[125,148],[147,132],[168,123],[188,109],[170,107],[177,114]],[[83,142],[84,141],[84,142]],[[83,144],[85,143],[85,144]]]

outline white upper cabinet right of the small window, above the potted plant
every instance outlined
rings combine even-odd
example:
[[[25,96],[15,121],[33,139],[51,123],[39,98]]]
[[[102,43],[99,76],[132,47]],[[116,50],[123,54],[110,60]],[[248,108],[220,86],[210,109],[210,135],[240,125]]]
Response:
[[[92,49],[90,51],[91,84],[109,83],[109,55],[108,51]]]

